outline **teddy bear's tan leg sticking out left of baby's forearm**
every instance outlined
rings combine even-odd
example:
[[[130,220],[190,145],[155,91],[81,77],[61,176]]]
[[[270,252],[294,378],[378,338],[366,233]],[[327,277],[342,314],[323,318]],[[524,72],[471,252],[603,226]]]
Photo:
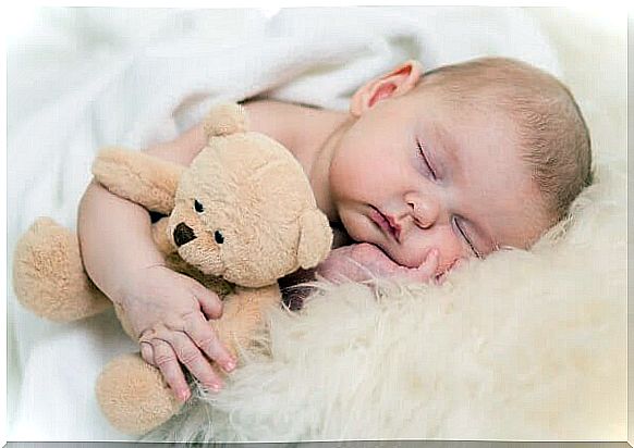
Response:
[[[57,322],[88,318],[111,306],[84,271],[76,234],[49,217],[38,219],[17,241],[13,287],[25,308]]]

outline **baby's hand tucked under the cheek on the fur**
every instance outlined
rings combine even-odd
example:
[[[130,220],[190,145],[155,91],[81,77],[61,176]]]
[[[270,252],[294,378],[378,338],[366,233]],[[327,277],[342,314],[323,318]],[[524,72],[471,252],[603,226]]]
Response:
[[[418,267],[402,266],[392,261],[381,249],[368,242],[337,248],[317,266],[317,273],[332,282],[350,278],[355,282],[370,279],[373,275],[401,277],[416,282],[440,282],[437,275],[438,250],[432,249]]]

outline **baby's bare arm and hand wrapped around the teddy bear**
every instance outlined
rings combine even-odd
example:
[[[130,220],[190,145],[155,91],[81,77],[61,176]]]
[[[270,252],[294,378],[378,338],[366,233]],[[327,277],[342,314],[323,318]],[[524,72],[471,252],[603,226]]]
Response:
[[[188,165],[205,146],[202,125],[146,152]],[[235,360],[206,324],[222,313],[218,296],[164,266],[151,239],[149,213],[97,183],[82,198],[77,232],[82,258],[93,282],[126,312],[142,341],[142,356],[158,366],[176,396],[190,395],[182,362],[204,385],[221,381],[202,351],[225,371]]]

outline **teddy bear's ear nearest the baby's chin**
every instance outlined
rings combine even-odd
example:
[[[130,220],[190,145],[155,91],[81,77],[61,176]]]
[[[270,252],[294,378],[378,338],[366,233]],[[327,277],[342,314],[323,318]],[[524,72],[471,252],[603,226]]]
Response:
[[[316,209],[302,213],[300,226],[297,262],[302,269],[315,267],[330,252],[332,229],[326,215]]]

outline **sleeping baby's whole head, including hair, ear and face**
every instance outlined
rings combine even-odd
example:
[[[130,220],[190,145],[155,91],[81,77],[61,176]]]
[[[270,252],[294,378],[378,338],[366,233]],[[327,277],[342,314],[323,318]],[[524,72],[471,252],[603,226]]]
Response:
[[[350,236],[440,271],[527,248],[592,183],[570,91],[528,64],[485,58],[422,74],[409,61],[364,85],[333,150],[330,191]]]

